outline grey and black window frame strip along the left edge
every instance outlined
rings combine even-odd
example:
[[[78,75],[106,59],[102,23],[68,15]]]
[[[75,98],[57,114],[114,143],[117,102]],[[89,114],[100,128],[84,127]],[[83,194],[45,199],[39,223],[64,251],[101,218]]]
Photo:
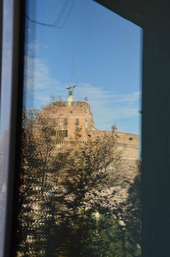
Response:
[[[9,2],[9,1],[8,1]],[[7,0],[0,0],[2,10],[7,7]],[[12,60],[9,63],[8,71],[11,73],[11,83],[8,85],[11,91],[11,99],[9,101],[10,113],[6,116],[9,121],[9,140],[6,147],[9,152],[6,156],[7,162],[7,191],[6,191],[6,208],[5,208],[5,233],[4,244],[0,249],[0,256],[14,256],[15,252],[15,231],[16,219],[18,214],[18,184],[19,184],[19,164],[20,164],[20,142],[21,142],[21,123],[22,123],[22,95],[23,95],[23,67],[24,67],[24,29],[25,29],[25,1],[11,0],[10,11],[13,14],[12,44],[10,51]],[[5,13],[0,12],[1,26],[1,44],[3,44],[3,30],[8,28],[9,24],[5,23]],[[20,40],[22,39],[22,40]],[[1,53],[3,48],[0,49]],[[1,65],[3,67],[2,55]],[[1,69],[1,77],[3,77],[3,69]],[[2,81],[1,81],[2,83]],[[0,85],[2,89],[2,84]],[[1,91],[1,90],[0,90]],[[3,116],[4,101],[1,101],[0,116]],[[2,131],[0,131],[1,133]],[[0,143],[1,147],[1,143]]]

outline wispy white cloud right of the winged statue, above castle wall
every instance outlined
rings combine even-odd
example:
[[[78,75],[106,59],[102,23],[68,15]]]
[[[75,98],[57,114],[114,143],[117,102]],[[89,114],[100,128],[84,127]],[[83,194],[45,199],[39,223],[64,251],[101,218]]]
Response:
[[[110,129],[115,120],[139,116],[139,98],[141,92],[114,95],[103,88],[89,84],[80,84],[75,90],[75,98],[84,100],[87,96],[91,111],[94,114],[95,125],[99,129]]]

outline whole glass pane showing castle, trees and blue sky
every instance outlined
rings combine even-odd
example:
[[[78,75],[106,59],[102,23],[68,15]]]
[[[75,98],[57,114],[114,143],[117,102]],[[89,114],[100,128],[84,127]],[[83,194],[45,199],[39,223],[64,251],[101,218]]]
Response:
[[[141,256],[140,28],[28,1],[24,71],[16,255]]]

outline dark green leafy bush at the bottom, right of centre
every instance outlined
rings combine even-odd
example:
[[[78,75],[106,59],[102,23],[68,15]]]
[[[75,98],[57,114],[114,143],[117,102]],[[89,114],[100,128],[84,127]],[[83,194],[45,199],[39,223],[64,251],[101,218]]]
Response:
[[[76,220],[74,229],[69,256],[132,257],[124,252],[121,225],[111,213],[82,216]]]

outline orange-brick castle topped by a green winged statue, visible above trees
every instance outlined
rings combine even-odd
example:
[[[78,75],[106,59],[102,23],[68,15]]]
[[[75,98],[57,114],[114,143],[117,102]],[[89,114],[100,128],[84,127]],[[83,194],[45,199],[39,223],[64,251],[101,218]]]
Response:
[[[62,136],[62,143],[67,144],[72,141],[76,134],[77,141],[88,143],[89,141],[95,141],[97,138],[101,138],[104,133],[111,133],[110,131],[106,132],[95,128],[88,98],[85,97],[84,101],[74,101],[74,87],[67,88],[69,89],[67,101],[64,101],[62,105],[53,107],[50,114],[54,123],[55,121],[59,121],[57,133]],[[127,192],[122,187],[123,180],[121,178],[126,178],[132,182],[136,175],[138,135],[117,131],[115,135],[117,136],[117,150],[121,152],[121,170],[118,172],[120,176],[119,184],[108,189],[108,192],[116,190],[117,193],[114,200],[121,202],[123,198],[127,197]]]

